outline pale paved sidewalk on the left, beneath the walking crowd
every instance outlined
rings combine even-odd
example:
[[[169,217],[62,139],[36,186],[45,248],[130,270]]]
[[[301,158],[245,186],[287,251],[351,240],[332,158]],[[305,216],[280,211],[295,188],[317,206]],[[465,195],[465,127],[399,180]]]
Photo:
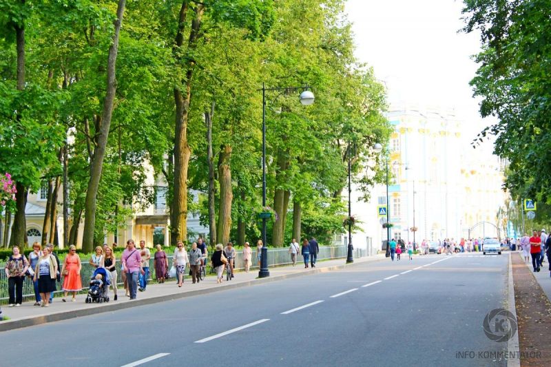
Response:
[[[374,262],[377,260],[384,260],[384,258],[384,253],[382,253],[371,257],[354,259],[354,264]],[[113,293],[110,291],[110,302],[103,304],[86,304],[84,302],[86,295],[81,294],[76,296],[76,302],[71,302],[70,296],[67,298],[67,302],[61,302],[61,298],[56,297],[48,308],[33,306],[33,302],[24,302],[21,304],[21,307],[17,308],[3,306],[2,315],[10,317],[10,319],[0,322],[0,332],[12,330],[14,328],[45,324],[47,322],[56,322],[63,319],[71,319],[74,317],[94,315],[96,313],[116,311],[134,306],[177,300],[183,297],[236,289],[254,284],[263,284],[286,279],[288,277],[323,273],[342,269],[346,266],[345,262],[346,260],[344,258],[322,261],[316,264],[315,269],[304,269],[304,264],[302,263],[297,263],[296,266],[275,267],[269,269],[269,277],[262,279],[258,278],[258,269],[254,269],[251,270],[250,273],[236,273],[233,280],[229,282],[224,281],[222,284],[216,283],[216,276],[207,276],[202,282],[192,284],[191,277],[187,276],[182,288],[178,288],[174,279],[164,284],[149,284],[147,286],[147,291],[138,292],[137,299],[133,301],[130,301],[128,297],[125,296],[124,289],[118,289],[118,300],[112,300]],[[353,266],[353,264],[349,266]]]

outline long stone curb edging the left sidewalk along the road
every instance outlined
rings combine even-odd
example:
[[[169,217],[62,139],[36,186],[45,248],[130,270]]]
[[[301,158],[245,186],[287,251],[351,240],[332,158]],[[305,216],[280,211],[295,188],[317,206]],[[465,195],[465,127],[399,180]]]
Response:
[[[247,282],[227,284],[225,286],[212,286],[212,287],[207,288],[207,289],[198,289],[196,291],[187,291],[187,292],[183,292],[183,293],[174,293],[174,294],[170,294],[170,295],[159,295],[159,296],[156,296],[156,297],[145,298],[145,299],[141,299],[141,300],[140,299],[134,300],[132,302],[106,303],[106,304],[101,304],[100,306],[96,306],[96,307],[93,307],[93,308],[84,308],[84,309],[81,309],[81,310],[74,310],[74,311],[64,311],[64,312],[59,312],[59,313],[52,313],[51,315],[40,315],[40,316],[35,316],[35,317],[28,317],[28,318],[25,318],[25,319],[8,320],[6,322],[0,322],[0,333],[3,332],[3,331],[10,331],[10,330],[18,329],[18,328],[26,328],[28,326],[48,324],[50,322],[57,322],[57,321],[63,321],[63,320],[66,320],[66,319],[73,319],[75,317],[83,317],[83,316],[96,315],[98,313],[118,311],[118,310],[122,310],[124,308],[131,308],[131,307],[136,307],[136,306],[146,306],[148,304],[156,304],[156,303],[165,302],[165,301],[180,300],[180,299],[186,298],[186,297],[194,297],[196,295],[205,295],[205,294],[210,294],[210,293],[227,291],[229,289],[244,288],[245,286],[253,286],[253,285],[256,285],[256,284],[277,282],[279,280],[289,279],[289,278],[293,278],[293,277],[301,277],[301,276],[305,276],[305,275],[327,273],[329,271],[344,269],[346,266],[354,266],[354,265],[357,265],[357,264],[364,264],[366,262],[378,262],[378,261],[382,261],[384,259],[385,258],[375,259],[375,260],[370,260],[370,261],[353,262],[351,264],[334,265],[334,266],[329,266],[329,267],[326,267],[326,268],[312,269],[311,271],[304,272],[304,273],[289,273],[289,274],[275,275],[275,276],[264,277],[264,278],[256,278],[254,280],[249,280]]]

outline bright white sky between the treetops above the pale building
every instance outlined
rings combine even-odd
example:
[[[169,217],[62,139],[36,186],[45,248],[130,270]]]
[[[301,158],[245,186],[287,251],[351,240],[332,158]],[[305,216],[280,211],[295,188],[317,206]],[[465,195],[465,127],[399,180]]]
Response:
[[[349,0],[357,58],[375,70],[391,104],[453,108],[472,138],[482,120],[468,84],[479,34],[458,32],[463,3],[455,0]],[[470,140],[470,139],[469,139]]]

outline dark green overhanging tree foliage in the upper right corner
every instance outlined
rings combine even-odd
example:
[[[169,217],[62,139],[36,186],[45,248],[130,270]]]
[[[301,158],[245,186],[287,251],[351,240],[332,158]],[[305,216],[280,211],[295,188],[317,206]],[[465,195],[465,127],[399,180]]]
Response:
[[[551,202],[551,1],[466,0],[466,32],[481,32],[479,69],[471,85],[482,116],[497,123],[475,143],[496,136],[508,162],[505,188],[514,199]]]

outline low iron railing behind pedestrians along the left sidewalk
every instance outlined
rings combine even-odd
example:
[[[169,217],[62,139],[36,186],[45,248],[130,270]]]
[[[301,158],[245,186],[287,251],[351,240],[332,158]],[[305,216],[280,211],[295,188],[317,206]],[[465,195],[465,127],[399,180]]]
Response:
[[[370,251],[366,251],[366,249],[354,249],[354,258],[362,258],[364,256],[369,256]],[[169,258],[169,266],[172,264],[172,256],[168,256]],[[320,253],[318,253],[318,260],[330,260],[330,259],[337,259],[337,258],[346,258],[346,247],[345,246],[323,246],[320,247]],[[302,255],[297,256],[297,263],[301,264],[303,262]],[[289,249],[268,249],[268,266],[282,266],[282,265],[288,265],[292,264],[291,262],[291,255],[289,254]],[[236,251],[236,259],[233,260],[234,269],[236,270],[242,270],[245,269],[245,264],[243,261],[243,252],[242,251]],[[0,263],[0,267],[2,270],[0,271],[0,304],[7,304],[9,297],[8,297],[8,277],[6,277],[6,272],[3,271],[5,264]],[[116,265],[117,272],[119,273],[119,276],[117,277],[117,285],[123,286],[123,282],[121,282],[121,264],[119,260],[117,260]],[[257,252],[256,249],[253,249],[252,251],[252,266],[251,269],[258,269],[258,260],[257,260]],[[94,273],[94,268],[92,265],[90,265],[89,262],[83,261],[82,262],[82,269],[81,269],[81,282],[82,282],[82,289],[83,291],[86,291],[88,289],[88,285],[90,283],[90,279],[92,278],[92,274]],[[154,266],[154,259],[151,258],[149,260],[149,279],[155,279],[155,266]],[[63,275],[61,275],[61,283],[56,282],[57,291],[54,293],[54,295],[61,295],[63,294],[63,291],[61,290],[61,287],[63,285]],[[23,302],[30,301],[34,299],[34,288],[32,286],[32,281],[29,277],[25,277],[25,280],[23,282]]]

